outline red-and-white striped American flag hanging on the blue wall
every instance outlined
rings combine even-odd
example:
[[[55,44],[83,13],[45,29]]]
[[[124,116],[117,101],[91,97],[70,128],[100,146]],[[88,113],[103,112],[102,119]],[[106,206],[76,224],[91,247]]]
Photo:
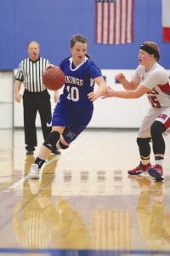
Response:
[[[95,0],[95,42],[133,42],[133,0]]]

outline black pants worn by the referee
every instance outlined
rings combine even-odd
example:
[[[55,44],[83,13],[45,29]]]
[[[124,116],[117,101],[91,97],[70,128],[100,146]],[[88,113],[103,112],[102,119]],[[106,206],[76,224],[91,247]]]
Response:
[[[23,95],[23,108],[26,149],[34,150],[34,147],[37,146],[37,112],[40,114],[43,138],[46,139],[51,131],[51,127],[47,126],[47,122],[49,122],[52,117],[48,90],[43,90],[42,92],[30,92],[25,90]]]

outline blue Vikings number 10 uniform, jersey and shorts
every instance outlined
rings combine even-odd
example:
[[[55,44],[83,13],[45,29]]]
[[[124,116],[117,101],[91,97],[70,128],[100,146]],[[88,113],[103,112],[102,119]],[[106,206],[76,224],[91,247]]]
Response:
[[[92,118],[94,104],[88,99],[88,93],[94,90],[94,79],[102,74],[87,57],[77,67],[74,67],[72,57],[66,58],[59,67],[65,73],[65,85],[54,109],[52,125],[65,126],[63,137],[71,143]]]

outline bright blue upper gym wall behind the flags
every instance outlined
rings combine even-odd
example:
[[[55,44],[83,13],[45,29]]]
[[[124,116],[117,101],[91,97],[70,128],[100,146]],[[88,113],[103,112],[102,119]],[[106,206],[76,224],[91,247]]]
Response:
[[[102,69],[133,69],[139,45],[155,41],[161,64],[169,68],[170,44],[162,42],[161,0],[134,0],[134,42],[124,45],[95,44],[94,0],[0,0],[0,70],[18,67],[27,56],[26,44],[37,40],[41,55],[58,64],[70,54],[75,33],[88,37],[88,53]]]

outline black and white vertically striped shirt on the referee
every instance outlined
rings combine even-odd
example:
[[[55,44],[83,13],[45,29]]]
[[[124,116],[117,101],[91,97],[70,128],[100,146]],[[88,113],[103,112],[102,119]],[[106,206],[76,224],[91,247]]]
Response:
[[[42,73],[48,64],[49,61],[42,57],[38,58],[37,61],[31,61],[29,58],[26,58],[20,61],[15,79],[23,82],[26,90],[41,92],[46,89],[44,84],[42,84]]]

